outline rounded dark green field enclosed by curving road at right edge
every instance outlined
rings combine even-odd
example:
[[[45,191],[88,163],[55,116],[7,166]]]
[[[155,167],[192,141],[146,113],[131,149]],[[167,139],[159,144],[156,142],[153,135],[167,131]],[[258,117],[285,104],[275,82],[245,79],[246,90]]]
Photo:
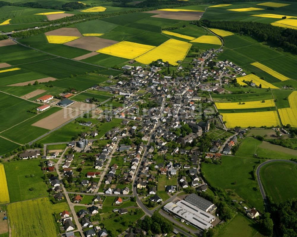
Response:
[[[266,195],[274,202],[285,201],[297,196],[297,165],[274,162],[260,169],[260,178]],[[290,191],[289,191],[290,190]]]

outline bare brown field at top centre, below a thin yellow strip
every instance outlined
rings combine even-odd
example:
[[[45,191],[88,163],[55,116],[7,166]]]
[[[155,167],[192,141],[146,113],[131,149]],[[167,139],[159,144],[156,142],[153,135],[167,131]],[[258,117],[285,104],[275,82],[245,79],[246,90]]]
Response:
[[[158,14],[151,17],[166,18],[173,20],[199,20],[200,17],[203,15],[203,12],[170,12],[159,10],[149,11],[147,13]]]

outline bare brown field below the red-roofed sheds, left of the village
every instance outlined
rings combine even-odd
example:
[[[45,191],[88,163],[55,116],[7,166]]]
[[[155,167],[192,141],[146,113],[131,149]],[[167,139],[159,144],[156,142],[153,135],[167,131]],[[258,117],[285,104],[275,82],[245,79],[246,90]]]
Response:
[[[82,113],[83,113],[82,111],[75,111],[72,109],[63,108],[58,112],[53,113],[48,117],[45,117],[37,121],[36,123],[33,123],[32,125],[40,128],[52,130]]]

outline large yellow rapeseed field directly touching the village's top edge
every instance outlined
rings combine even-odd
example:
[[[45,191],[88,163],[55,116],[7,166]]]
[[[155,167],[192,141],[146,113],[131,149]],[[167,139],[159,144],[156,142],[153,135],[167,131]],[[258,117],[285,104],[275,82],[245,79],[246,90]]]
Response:
[[[143,64],[149,64],[152,61],[162,59],[164,62],[168,61],[171,65],[177,66],[177,61],[186,57],[191,46],[192,44],[184,41],[169,39],[151,51],[135,58],[135,60]]]

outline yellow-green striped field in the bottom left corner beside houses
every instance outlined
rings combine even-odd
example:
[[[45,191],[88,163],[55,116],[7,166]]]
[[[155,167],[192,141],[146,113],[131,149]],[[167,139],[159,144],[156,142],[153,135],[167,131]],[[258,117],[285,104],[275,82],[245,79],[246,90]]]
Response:
[[[51,215],[69,209],[67,203],[51,204],[38,198],[7,206],[12,237],[56,237],[56,224]]]

